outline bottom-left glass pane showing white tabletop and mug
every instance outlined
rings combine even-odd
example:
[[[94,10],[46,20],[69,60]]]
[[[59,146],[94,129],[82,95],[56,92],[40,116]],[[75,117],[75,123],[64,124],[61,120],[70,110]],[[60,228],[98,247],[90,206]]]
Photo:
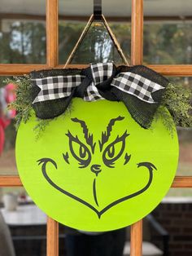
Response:
[[[0,188],[0,225],[3,255],[46,256],[46,214],[24,188]]]

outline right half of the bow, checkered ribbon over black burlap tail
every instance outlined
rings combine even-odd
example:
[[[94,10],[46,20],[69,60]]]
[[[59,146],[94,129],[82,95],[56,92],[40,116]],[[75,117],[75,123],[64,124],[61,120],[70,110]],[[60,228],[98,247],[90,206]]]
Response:
[[[111,92],[124,103],[133,119],[143,128],[150,128],[168,80],[150,68],[133,66],[129,72],[119,73],[111,86]]]

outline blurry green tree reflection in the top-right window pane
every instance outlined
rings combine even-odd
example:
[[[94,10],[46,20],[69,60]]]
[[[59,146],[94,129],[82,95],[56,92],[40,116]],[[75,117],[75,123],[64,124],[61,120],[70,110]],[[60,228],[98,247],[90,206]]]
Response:
[[[143,50],[147,64],[191,64],[192,24],[145,24]]]

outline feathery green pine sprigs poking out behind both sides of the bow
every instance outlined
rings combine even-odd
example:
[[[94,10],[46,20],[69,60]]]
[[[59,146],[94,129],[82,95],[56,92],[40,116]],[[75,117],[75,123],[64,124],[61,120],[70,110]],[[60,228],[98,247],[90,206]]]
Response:
[[[16,130],[20,126],[20,122],[26,123],[31,116],[33,109],[32,99],[32,84],[29,75],[23,77],[14,77],[13,79],[7,79],[6,83],[14,83],[16,87],[16,99],[9,105],[9,108],[14,108],[17,111],[15,117]],[[169,113],[164,111],[164,107],[168,108]],[[70,113],[72,106],[68,108],[66,113]],[[65,113],[64,113],[65,114]],[[192,127],[192,89],[182,85],[168,84],[166,92],[164,94],[162,103],[155,113],[155,120],[161,117],[164,121],[164,126],[170,131],[175,129],[173,124],[181,127]],[[172,122],[172,119],[174,123]],[[46,126],[49,125],[50,120],[41,120],[37,118],[37,126],[33,128],[36,133],[37,139],[46,130]]]

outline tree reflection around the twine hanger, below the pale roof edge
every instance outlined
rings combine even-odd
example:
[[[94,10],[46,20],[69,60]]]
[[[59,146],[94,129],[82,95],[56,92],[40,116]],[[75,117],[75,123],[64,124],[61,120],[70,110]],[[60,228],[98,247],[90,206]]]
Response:
[[[130,24],[110,24],[117,40],[129,61]],[[73,47],[76,45],[85,23],[59,23],[59,62],[64,64]],[[91,62],[110,62],[123,64],[110,35],[102,23],[94,22],[76,51],[72,64],[89,64]]]

